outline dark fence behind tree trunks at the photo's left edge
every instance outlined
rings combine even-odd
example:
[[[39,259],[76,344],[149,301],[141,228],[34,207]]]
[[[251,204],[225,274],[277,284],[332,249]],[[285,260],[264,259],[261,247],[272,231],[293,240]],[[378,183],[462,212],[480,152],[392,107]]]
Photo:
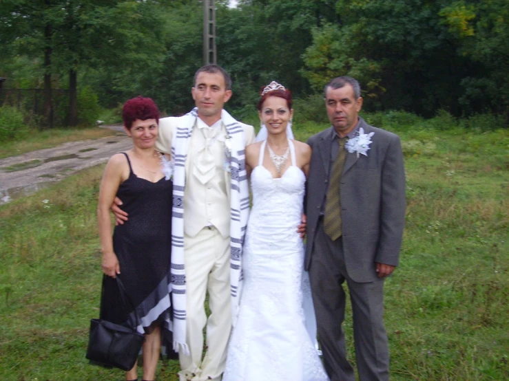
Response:
[[[52,104],[50,120],[44,120],[43,89],[0,89],[0,106],[16,107],[31,118],[36,116],[37,120],[49,126],[65,126],[69,108],[69,90],[52,89]]]

